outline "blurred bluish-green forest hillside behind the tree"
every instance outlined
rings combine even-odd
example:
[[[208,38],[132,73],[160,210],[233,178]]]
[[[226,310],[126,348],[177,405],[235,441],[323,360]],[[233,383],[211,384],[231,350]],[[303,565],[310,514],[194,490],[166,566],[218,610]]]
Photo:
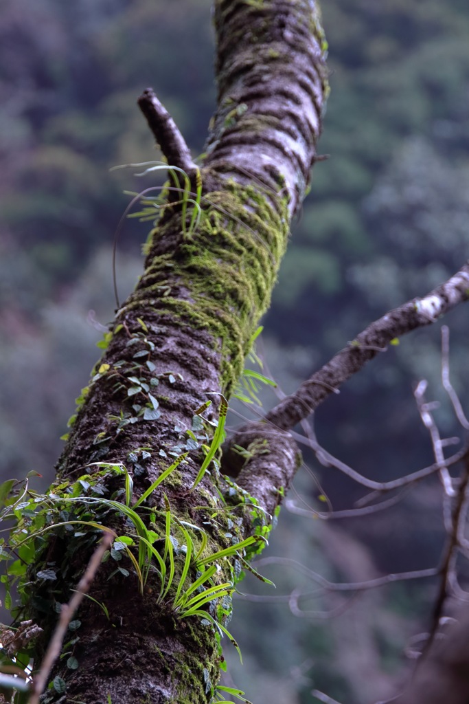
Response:
[[[109,169],[160,158],[136,108],[147,86],[193,153],[203,152],[215,100],[210,0],[1,0],[0,8],[0,480],[37,470],[49,482],[100,326],[113,317],[122,191],[152,184],[133,176],[139,169]],[[314,168],[261,347],[284,391],[468,256],[467,0],[323,0],[323,22],[332,92],[320,151],[330,159]],[[121,299],[141,271],[147,230],[124,224]],[[461,308],[444,321],[462,399],[467,318]],[[422,377],[442,401],[442,434],[458,432],[439,382],[437,328],[401,340],[316,413],[321,443],[367,477],[386,481],[432,463],[412,396]],[[312,453],[304,460],[314,476],[302,470],[297,491],[311,507],[324,509],[322,492],[334,510],[364,494]],[[268,554],[360,581],[435,566],[441,524],[431,479],[371,519],[326,522],[283,509]],[[255,580],[241,589],[268,597],[314,589],[288,565],[264,573],[275,592]],[[239,598],[230,629],[245,665],[230,656],[229,672],[250,699],[272,704],[316,701],[313,686],[348,704],[390,696],[435,589],[428,580],[369,591],[331,619]],[[341,610],[347,598],[319,592],[302,608]]]

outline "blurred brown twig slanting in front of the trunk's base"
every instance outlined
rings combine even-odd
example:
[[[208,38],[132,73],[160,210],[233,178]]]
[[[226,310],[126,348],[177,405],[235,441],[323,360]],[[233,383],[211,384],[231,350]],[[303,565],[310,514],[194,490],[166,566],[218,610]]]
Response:
[[[99,565],[101,565],[103,555],[105,551],[110,548],[112,542],[112,534],[103,534],[101,543],[98,545],[93,555],[91,555],[91,560],[89,560],[88,567],[86,567],[83,577],[77,585],[77,591],[75,591],[75,594],[72,596],[68,604],[62,605],[56,630],[53,632],[53,636],[46,650],[46,655],[44,655],[44,660],[41,662],[39,672],[37,672],[34,676],[34,689],[32,691],[29,704],[39,704],[39,697],[46,689],[47,680],[49,679],[49,674],[51,673],[53,664],[60,655],[60,650],[62,650],[62,643],[67,633],[68,625],[70,624],[75,611],[82,602],[84,595],[88,592],[96,572],[98,571]]]

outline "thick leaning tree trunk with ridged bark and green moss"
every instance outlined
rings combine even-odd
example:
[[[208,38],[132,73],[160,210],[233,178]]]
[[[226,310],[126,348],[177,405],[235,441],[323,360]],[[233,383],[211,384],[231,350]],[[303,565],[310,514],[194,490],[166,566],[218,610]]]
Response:
[[[98,496],[92,486],[98,482],[103,497],[124,501],[124,475],[107,472],[106,465],[125,466],[133,479],[132,504],[183,456],[146,501],[153,513],[139,510],[158,534],[155,545],[168,570],[169,553],[174,553],[175,577],[161,599],[157,572],[150,571],[141,593],[128,557],[105,562],[91,596],[105,605],[109,618],[96,603],[84,601],[79,639],[68,646],[78,667],[66,667],[67,658],[59,661],[53,674],[63,678],[67,691],[49,689],[48,701],[210,701],[222,662],[218,630],[200,615],[181,617],[174,610],[185,563],[179,522],[194,544],[201,546],[200,536],[206,536],[200,560],[255,533],[266,534],[297,463],[290,436],[273,438],[261,427],[267,452],[252,463],[252,472],[250,464],[244,468],[242,488],[226,484],[212,464],[212,472],[191,491],[205,457],[204,435],[210,444],[224,410],[220,394],[229,398],[233,391],[269,306],[290,220],[309,182],[327,89],[326,44],[313,0],[217,0],[214,19],[218,106],[200,179],[174,125],[158,113],[158,101],[150,92],[141,99],[168,161],[184,168],[193,192],[201,181],[202,218],[191,228],[193,205],[187,203],[184,213],[181,195],[169,193],[141,281],[117,311],[108,347],[79,404],[53,489],[64,498],[71,486],[75,494]],[[195,412],[207,399],[212,406],[204,422]],[[84,474],[91,488],[85,480],[77,484]],[[93,506],[93,520],[117,534],[132,534],[119,512]],[[69,520],[84,515],[79,501],[74,507]],[[168,507],[173,550],[165,539]],[[88,505],[86,520],[90,511]],[[58,579],[39,579],[30,595],[30,612],[44,628],[39,655],[56,622],[57,605],[68,601],[92,548],[86,529],[85,536],[60,530],[35,567],[37,572],[44,562],[55,565]],[[259,543],[247,549],[247,558],[250,549],[255,552]],[[118,557],[115,551],[113,557]],[[238,558],[220,557],[217,564],[212,584],[233,583]],[[112,574],[116,567],[123,569]],[[184,589],[195,582],[198,570],[200,563],[192,559]],[[226,624],[231,602],[225,595],[204,608]]]

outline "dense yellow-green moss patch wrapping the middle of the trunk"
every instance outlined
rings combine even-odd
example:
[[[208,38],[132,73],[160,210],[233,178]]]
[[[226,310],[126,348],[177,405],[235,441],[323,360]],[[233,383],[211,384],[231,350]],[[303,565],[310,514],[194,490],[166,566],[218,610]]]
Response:
[[[224,182],[223,191],[204,196],[202,204],[198,230],[183,238],[170,257],[152,252],[174,233],[180,213],[153,234],[146,271],[118,315],[147,306],[177,324],[210,331],[214,349],[221,347],[223,386],[229,394],[243,369],[250,337],[269,307],[287,244],[288,213],[284,200],[273,207],[259,190],[232,180]]]

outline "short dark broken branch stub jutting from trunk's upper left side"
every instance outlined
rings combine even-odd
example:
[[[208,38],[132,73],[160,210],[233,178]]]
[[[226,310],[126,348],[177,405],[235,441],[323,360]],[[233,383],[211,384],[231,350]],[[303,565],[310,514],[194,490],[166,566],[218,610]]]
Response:
[[[155,96],[153,89],[144,90],[137,102],[169,166],[181,168],[189,177],[194,175],[197,166],[192,161],[191,151],[176,122]]]

